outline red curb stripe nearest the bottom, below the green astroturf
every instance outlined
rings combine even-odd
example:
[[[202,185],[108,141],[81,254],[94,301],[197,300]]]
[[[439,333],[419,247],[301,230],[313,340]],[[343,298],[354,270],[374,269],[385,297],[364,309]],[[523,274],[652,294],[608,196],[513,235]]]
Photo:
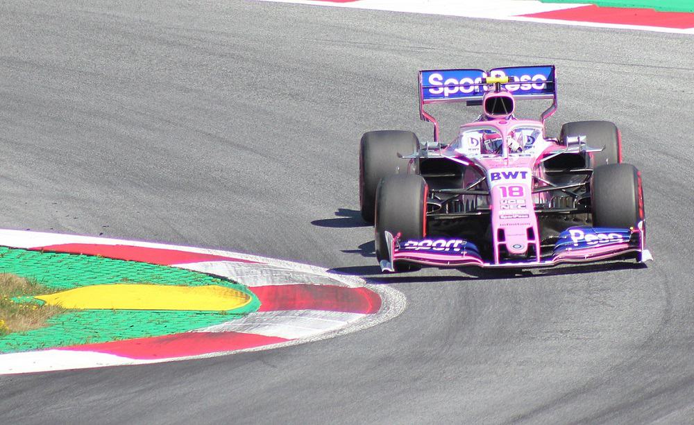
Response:
[[[99,344],[74,345],[60,348],[68,351],[98,352],[116,356],[155,360],[201,356],[203,354],[230,352],[237,349],[287,342],[285,338],[262,336],[240,332],[186,332],[154,338],[101,342]]]

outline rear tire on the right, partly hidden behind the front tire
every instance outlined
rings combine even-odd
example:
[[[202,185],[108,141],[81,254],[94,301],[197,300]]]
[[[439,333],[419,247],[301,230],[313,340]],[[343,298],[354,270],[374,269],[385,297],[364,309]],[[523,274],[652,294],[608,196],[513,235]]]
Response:
[[[589,153],[589,168],[622,162],[622,143],[620,132],[609,121],[576,121],[561,126],[561,141],[566,144],[568,137],[585,136],[588,146],[602,148],[602,152]]]

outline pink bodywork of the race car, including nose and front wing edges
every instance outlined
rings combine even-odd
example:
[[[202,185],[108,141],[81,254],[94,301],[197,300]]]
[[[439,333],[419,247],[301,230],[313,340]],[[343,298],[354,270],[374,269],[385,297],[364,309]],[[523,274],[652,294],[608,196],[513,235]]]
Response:
[[[420,106],[422,118],[434,124],[434,140],[436,141],[439,137],[439,125],[430,114],[423,110],[423,103]],[[439,150],[441,156],[467,166],[464,175],[464,187],[473,184],[481,176],[486,177],[491,209],[492,263],[484,261],[476,250],[466,249],[464,242],[455,253],[450,252],[450,250],[446,250],[446,253],[437,252],[439,248],[427,248],[426,252],[412,249],[400,250],[399,242],[401,241],[398,241],[398,235],[393,236],[386,232],[391,261],[389,266],[384,268],[382,265],[382,268],[390,270],[396,261],[439,267],[548,267],[567,262],[602,261],[630,252],[638,253],[640,261],[650,259],[650,252],[645,250],[643,221],[638,223],[637,227],[630,229],[631,235],[628,240],[609,241],[609,243],[599,243],[594,247],[576,250],[566,248],[560,252],[555,252],[550,258],[541,258],[540,229],[534,208],[536,204],[548,202],[550,192],[533,193],[533,189],[545,185],[543,183],[545,176],[542,175],[543,167],[540,166],[542,159],[566,150],[566,146],[559,144],[556,139],[545,139],[544,137],[544,121],[555,110],[556,98],[552,107],[543,114],[542,121],[516,119],[509,116],[508,118],[489,119],[489,121],[475,121],[461,126],[461,132],[480,126],[496,129],[503,141],[500,155],[466,155],[466,153],[461,152],[459,144],[455,142]],[[523,150],[521,153],[509,153],[509,135],[514,129],[521,127],[538,128],[542,137],[536,141],[536,146],[530,152]],[[414,159],[412,159],[409,171],[414,172]],[[511,193],[513,196],[509,196]],[[466,196],[468,195],[462,195],[462,200]],[[513,203],[509,204],[511,201]],[[431,246],[442,246],[437,245],[437,243],[441,244],[444,241],[446,239],[432,238]],[[511,255],[518,255],[519,260],[500,261],[502,249]],[[530,258],[521,258],[527,254],[528,250],[532,250],[534,255]]]

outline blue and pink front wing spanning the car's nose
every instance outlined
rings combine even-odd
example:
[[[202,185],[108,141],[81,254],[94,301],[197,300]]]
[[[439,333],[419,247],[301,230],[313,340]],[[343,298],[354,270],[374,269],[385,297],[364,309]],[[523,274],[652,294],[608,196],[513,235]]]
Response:
[[[570,227],[559,235],[552,254],[526,261],[502,261],[493,263],[482,258],[480,250],[470,241],[462,239],[423,239],[399,241],[385,232],[389,258],[380,261],[382,271],[394,272],[399,263],[416,263],[440,268],[477,266],[482,268],[542,268],[561,263],[591,263],[618,259],[625,254],[635,254],[636,261],[652,261],[645,249],[645,225],[643,221],[630,229],[594,227]]]

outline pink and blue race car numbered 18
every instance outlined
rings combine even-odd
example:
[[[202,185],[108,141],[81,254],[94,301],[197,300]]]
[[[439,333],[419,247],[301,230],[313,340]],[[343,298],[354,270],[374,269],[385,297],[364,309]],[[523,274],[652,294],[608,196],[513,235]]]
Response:
[[[578,121],[547,135],[554,66],[425,70],[418,91],[432,141],[401,130],[361,139],[359,203],[382,271],[652,259],[641,174],[622,162],[616,125]],[[552,103],[539,121],[518,119],[526,99]],[[425,105],[455,102],[482,114],[444,143]]]

